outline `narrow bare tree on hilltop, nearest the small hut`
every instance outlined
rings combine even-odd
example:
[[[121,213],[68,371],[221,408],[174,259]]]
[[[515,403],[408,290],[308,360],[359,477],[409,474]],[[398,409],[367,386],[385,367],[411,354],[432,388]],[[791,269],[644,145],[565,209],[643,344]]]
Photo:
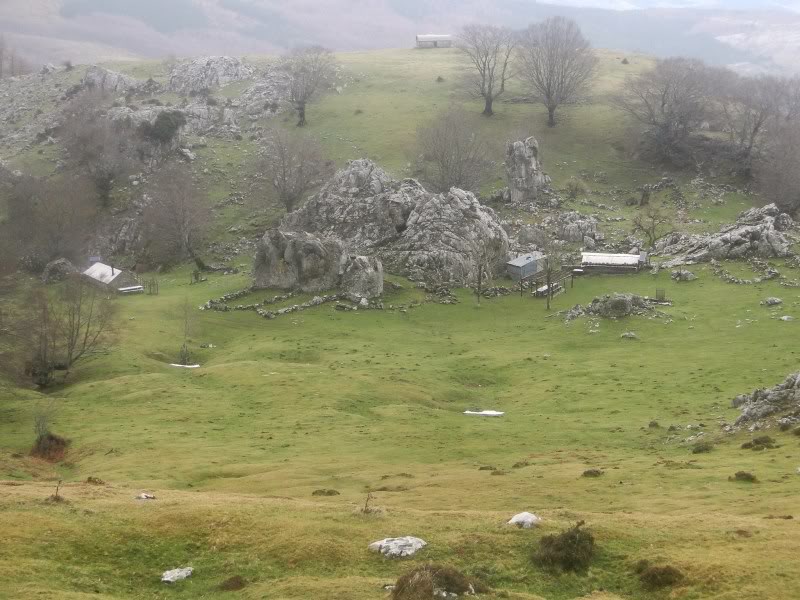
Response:
[[[506,90],[511,79],[511,58],[516,36],[511,29],[494,25],[467,25],[458,38],[458,47],[475,69],[471,89],[484,100],[483,114],[494,114],[494,101]]]

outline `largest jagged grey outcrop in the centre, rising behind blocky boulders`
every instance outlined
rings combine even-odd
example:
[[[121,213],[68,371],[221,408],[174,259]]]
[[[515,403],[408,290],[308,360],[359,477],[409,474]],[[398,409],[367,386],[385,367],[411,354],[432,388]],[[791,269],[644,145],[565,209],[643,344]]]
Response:
[[[500,269],[509,248],[497,215],[470,192],[432,194],[366,159],[339,171],[281,229],[335,236],[392,272],[437,282],[471,282],[482,256]]]

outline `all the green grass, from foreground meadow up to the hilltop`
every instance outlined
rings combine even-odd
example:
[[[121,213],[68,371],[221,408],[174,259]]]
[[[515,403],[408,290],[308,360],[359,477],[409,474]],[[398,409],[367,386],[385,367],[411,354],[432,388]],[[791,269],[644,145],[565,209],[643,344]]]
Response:
[[[630,217],[626,197],[666,173],[625,152],[627,124],[608,100],[650,63],[600,57],[591,97],[549,129],[537,105],[498,102],[496,116],[482,117],[459,86],[466,65],[456,51],[341,54],[347,85],[309,107],[308,131],[339,165],[367,157],[405,177],[417,128],[450,104],[465,105],[496,148],[497,178],[487,190],[501,186],[505,141],[525,131],[539,139],[556,187],[589,174],[585,198],[613,210],[586,207],[583,197],[571,208]],[[111,66],[165,77],[160,62]],[[505,98],[523,93],[515,84]],[[277,118],[293,126],[292,116]],[[279,219],[254,177],[255,143],[247,135],[206,142],[192,169],[209,203],[246,197],[244,206],[216,211],[215,239],[256,235]],[[48,147],[5,158],[43,174],[57,156]],[[683,218],[699,219],[686,225],[697,231],[716,230],[757,201],[731,193],[715,206],[685,191]],[[671,206],[667,196],[654,204]],[[242,229],[229,232],[234,226]],[[740,448],[749,433],[723,434],[721,424],[738,414],[734,396],[798,370],[800,290],[775,281],[733,286],[708,267],[693,270],[699,280],[687,284],[668,272],[581,278],[550,312],[527,295],[478,305],[467,290],[456,291],[458,304],[441,305],[396,277],[402,289],[387,292],[383,311],[328,304],[265,320],[192,310],[194,370],[170,366],[184,306],[248,287],[249,276],[211,274],[189,285],[188,268],[159,274],[160,295],[118,299],[118,339],[107,354],[80,363],[47,394],[0,388],[0,599],[379,600],[384,584],[430,561],[517,600],[798,598],[800,437],[771,431],[779,447],[753,452]],[[653,318],[567,324],[554,314],[598,295],[652,296],[657,288],[674,305]],[[760,306],[767,296],[784,305]],[[621,339],[627,331],[639,339]],[[470,417],[468,409],[506,414]],[[62,462],[29,455],[43,411],[72,441]],[[711,452],[692,453],[699,432]],[[591,468],[604,474],[582,477]],[[740,470],[758,483],[728,480]],[[59,480],[65,501],[48,501]],[[321,489],[339,495],[313,495]],[[143,491],[156,500],[135,500]],[[365,516],[358,508],[370,493],[378,510]],[[542,516],[542,526],[505,525],[522,511]],[[532,560],[544,535],[579,520],[597,542],[588,572],[553,572]],[[367,550],[402,535],[429,545],[400,561]],[[634,573],[642,559],[686,578],[647,589]],[[188,565],[191,578],[160,583],[163,571]],[[237,575],[244,589],[220,589]]]

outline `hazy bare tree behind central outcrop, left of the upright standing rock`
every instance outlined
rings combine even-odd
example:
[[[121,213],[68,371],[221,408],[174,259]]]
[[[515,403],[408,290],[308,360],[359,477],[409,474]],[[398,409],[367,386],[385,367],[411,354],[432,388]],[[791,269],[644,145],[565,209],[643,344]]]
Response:
[[[449,108],[417,132],[426,183],[436,191],[451,187],[476,191],[489,172],[487,147],[460,108]]]

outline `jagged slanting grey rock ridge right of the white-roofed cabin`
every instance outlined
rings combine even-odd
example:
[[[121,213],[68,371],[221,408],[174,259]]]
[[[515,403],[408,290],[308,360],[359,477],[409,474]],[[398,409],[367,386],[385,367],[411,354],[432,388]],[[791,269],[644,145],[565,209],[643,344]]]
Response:
[[[791,240],[786,233],[794,221],[775,204],[751,208],[739,215],[736,223],[712,235],[674,233],[656,244],[656,254],[675,256],[663,268],[723,259],[779,258],[791,256]]]

